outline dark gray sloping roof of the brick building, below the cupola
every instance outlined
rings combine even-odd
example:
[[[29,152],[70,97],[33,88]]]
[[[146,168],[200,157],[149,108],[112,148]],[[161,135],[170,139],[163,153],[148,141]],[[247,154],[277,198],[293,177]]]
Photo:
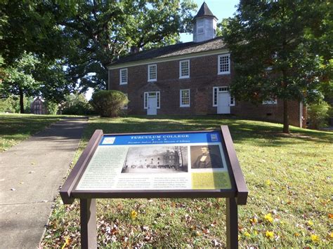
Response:
[[[222,37],[216,37],[214,39],[202,42],[190,41],[126,55],[123,58],[120,58],[119,60],[111,63],[109,66],[120,65],[129,62],[138,62],[141,60],[162,59],[180,55],[188,55],[192,53],[215,51],[222,48],[226,48]]]

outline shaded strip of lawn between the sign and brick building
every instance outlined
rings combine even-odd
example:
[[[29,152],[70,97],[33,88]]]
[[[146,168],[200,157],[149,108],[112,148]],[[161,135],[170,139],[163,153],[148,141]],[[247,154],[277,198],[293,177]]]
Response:
[[[295,142],[333,142],[333,134],[291,126],[291,134],[282,133],[282,125],[221,116],[131,116],[117,119],[93,119],[84,133],[88,141],[96,129],[103,133],[153,133],[186,130],[216,130],[228,126],[235,143],[256,142],[260,146],[280,147]]]

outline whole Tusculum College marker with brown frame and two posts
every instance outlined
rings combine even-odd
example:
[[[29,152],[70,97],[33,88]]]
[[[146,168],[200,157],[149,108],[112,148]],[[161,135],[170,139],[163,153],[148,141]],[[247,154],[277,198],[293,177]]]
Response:
[[[83,248],[96,244],[95,198],[226,197],[228,246],[234,246],[237,205],[246,203],[247,192],[228,127],[221,126],[174,133],[96,130],[60,195],[64,203],[81,200]]]

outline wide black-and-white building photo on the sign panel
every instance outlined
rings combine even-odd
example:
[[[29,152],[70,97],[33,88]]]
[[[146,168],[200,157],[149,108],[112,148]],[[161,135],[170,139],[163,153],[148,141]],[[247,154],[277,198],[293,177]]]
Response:
[[[188,147],[129,147],[122,173],[188,172]]]

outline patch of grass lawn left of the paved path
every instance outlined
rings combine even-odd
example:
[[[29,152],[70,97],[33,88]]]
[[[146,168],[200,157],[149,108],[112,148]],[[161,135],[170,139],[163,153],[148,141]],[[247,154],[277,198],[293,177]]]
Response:
[[[4,152],[61,118],[62,116],[54,115],[0,114],[0,152]]]

